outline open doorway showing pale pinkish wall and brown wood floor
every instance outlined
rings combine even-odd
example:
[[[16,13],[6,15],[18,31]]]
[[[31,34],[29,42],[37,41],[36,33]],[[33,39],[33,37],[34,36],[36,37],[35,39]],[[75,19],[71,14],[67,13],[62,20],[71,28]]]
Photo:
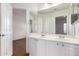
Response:
[[[13,9],[13,56],[26,54],[26,10]]]

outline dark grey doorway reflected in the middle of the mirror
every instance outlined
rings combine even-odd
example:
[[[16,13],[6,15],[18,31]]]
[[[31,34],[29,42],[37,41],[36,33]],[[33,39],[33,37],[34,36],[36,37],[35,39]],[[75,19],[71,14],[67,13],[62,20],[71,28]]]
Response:
[[[56,34],[67,34],[67,17],[60,16],[55,18]]]

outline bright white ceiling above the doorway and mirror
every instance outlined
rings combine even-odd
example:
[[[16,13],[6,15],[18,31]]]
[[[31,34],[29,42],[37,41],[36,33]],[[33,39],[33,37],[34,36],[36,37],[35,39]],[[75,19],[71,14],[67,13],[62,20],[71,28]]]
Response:
[[[30,10],[33,13],[47,13],[67,8],[69,3],[11,3],[13,8]]]

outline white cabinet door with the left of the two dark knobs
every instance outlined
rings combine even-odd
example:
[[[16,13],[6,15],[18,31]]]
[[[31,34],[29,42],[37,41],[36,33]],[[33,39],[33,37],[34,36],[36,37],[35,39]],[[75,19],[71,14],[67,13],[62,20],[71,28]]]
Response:
[[[46,42],[47,48],[46,48],[46,55],[47,56],[61,56],[62,53],[62,46],[59,42],[54,41],[47,41]]]

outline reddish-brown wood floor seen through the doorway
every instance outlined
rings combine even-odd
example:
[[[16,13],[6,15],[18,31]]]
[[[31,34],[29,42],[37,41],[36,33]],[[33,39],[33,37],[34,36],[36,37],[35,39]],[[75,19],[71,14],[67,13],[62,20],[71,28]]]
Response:
[[[26,39],[13,40],[13,56],[29,56],[26,53]]]

